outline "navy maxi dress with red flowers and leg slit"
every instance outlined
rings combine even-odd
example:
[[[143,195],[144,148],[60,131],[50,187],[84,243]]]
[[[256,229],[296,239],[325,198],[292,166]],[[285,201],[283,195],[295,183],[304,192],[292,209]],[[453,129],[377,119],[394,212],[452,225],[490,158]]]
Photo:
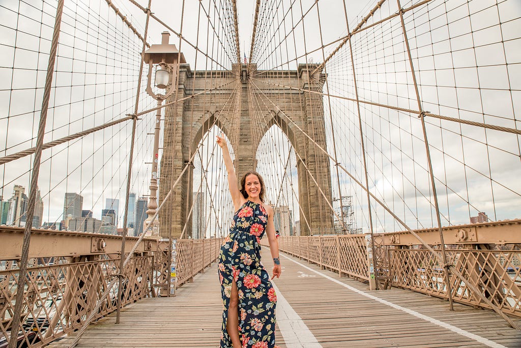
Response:
[[[277,295],[261,265],[261,245],[268,214],[262,204],[246,201],[233,216],[219,253],[221,283],[221,348],[232,346],[226,331],[232,282],[239,293],[239,337],[243,348],[274,348]]]

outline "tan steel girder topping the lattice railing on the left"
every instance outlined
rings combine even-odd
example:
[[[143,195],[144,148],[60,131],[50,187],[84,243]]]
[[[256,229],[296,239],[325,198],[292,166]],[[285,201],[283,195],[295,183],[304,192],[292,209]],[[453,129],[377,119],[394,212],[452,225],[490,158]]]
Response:
[[[0,226],[0,260],[13,260],[21,256],[23,228]],[[120,254],[121,236],[111,234],[39,230],[33,229],[30,257],[79,256],[98,254]],[[127,237],[125,252],[130,252],[138,237]],[[164,250],[168,242],[144,238],[136,252],[156,252]]]

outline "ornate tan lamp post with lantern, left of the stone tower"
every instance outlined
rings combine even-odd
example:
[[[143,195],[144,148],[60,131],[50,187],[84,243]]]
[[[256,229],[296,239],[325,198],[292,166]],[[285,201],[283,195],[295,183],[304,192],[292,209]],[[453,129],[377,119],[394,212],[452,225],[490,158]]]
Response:
[[[176,45],[169,44],[170,33],[164,31],[160,45],[152,45],[145,51],[144,62],[148,63],[148,77],[146,93],[157,100],[157,106],[161,106],[163,101],[168,98],[177,88],[177,66],[180,63],[187,63],[182,53],[177,50]],[[154,85],[158,89],[165,90],[164,94],[152,91],[152,71],[155,70]],[[154,219],[157,209],[157,165],[159,163],[159,130],[161,122],[161,109],[157,109],[156,123],[154,128],[154,152],[152,155],[152,176],[150,178],[150,196],[148,197],[148,217],[144,222],[143,229],[153,221],[152,230],[148,230],[146,235],[159,237],[159,220]]]

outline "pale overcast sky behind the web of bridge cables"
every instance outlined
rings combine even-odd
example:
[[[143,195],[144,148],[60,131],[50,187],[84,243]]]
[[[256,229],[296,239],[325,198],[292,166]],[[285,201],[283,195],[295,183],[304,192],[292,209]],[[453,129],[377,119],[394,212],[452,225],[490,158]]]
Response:
[[[144,1],[140,3],[146,6]],[[258,31],[265,30],[269,34],[261,35],[263,39],[258,43],[259,51],[254,56],[260,68],[268,69],[277,64],[282,64],[282,68],[294,68],[294,61],[286,66],[284,63],[319,48],[320,33],[324,44],[346,34],[343,5],[339,0],[320,1],[320,17],[314,1],[292,2],[293,21],[289,17],[282,19],[290,2],[276,3],[280,4],[279,11],[268,11],[269,15],[259,22],[264,24],[259,24]],[[350,28],[356,26],[374,3],[346,1]],[[402,6],[413,3],[402,1]],[[145,15],[142,11],[126,0],[117,0],[114,4],[138,32],[144,32]],[[181,46],[192,69],[216,69],[218,65],[229,69],[231,62],[227,55],[233,52],[230,48],[233,37],[227,27],[232,22],[229,13],[221,9],[223,20],[216,21],[213,3],[208,6],[208,2],[203,2],[218,32],[217,38],[211,28],[210,35],[206,35],[206,17],[199,19],[197,16],[199,2],[185,2],[184,13],[181,4],[180,1],[154,0],[152,11],[178,32],[181,31],[182,19],[183,36],[194,45],[199,40],[201,51],[208,53],[217,63],[204,58],[201,52],[196,54],[186,42],[180,43],[175,35],[170,37],[170,43]],[[81,1],[66,2],[54,78],[56,88],[51,96],[45,141],[133,112],[141,42],[104,1],[89,5],[90,8]],[[0,5],[0,129],[4,131],[0,134],[0,150],[5,148],[2,156],[35,143],[48,59],[46,53],[54,23],[53,6],[56,5],[51,0],[43,5],[14,0]],[[254,1],[238,0],[241,59],[250,54],[254,6]],[[277,23],[282,23],[289,32],[298,22],[299,14],[308,9],[311,11],[305,21],[294,31],[294,40],[293,36],[288,36],[287,40],[280,39],[282,29],[279,34],[271,36]],[[369,24],[394,13],[396,3],[386,2]],[[517,121],[521,86],[516,78],[521,72],[520,17],[521,4],[516,0],[502,1],[499,5],[484,0],[469,3],[433,0],[414,15],[406,14],[424,110],[521,128]],[[319,20],[320,30],[317,30]],[[148,41],[159,43],[160,33],[164,30],[152,20]],[[418,108],[398,18],[362,32],[355,36],[352,44],[360,98],[391,106]],[[216,48],[220,45],[225,49]],[[270,55],[270,48],[277,45],[285,49]],[[327,46],[324,54],[327,56],[337,45]],[[320,62],[322,51],[318,49],[301,57],[298,63],[312,59]],[[326,66],[330,94],[355,98],[350,67],[351,58],[346,45]],[[153,105],[155,102],[142,89],[139,109]],[[365,183],[356,104],[333,97],[330,105],[325,103],[326,119],[329,113],[332,124],[326,122],[328,151],[332,153],[330,135],[334,130],[339,162]],[[367,104],[361,107],[371,192],[412,227],[424,227],[432,225],[436,219],[426,171],[423,134],[416,116]],[[486,212],[493,220],[519,217],[521,186],[516,180],[521,175],[519,137],[432,118],[426,121],[443,225],[468,222],[469,216],[480,211]],[[153,114],[143,117],[138,127],[131,191],[139,196],[148,192],[150,166],[144,163],[150,162],[152,156],[152,136],[147,133],[152,132]],[[278,132],[278,135],[267,135],[265,141],[269,144],[272,139],[282,139],[278,141],[287,144],[288,141]],[[65,192],[81,193],[85,197],[84,209],[93,207],[95,217],[100,216],[106,198],[119,198],[122,220],[129,136],[127,122],[44,151],[40,175],[44,221],[59,221]],[[264,146],[269,145],[261,148]],[[286,156],[284,153],[281,157]],[[257,155],[259,159],[262,157],[262,154]],[[279,158],[272,159],[274,166],[279,161]],[[24,185],[28,193],[31,163],[32,157],[26,157],[0,166],[0,195],[4,200],[11,196],[14,184]],[[353,196],[357,226],[366,230],[366,194],[344,173],[341,175],[341,190],[343,196]],[[339,195],[334,181],[333,194]],[[288,192],[287,196],[289,202],[291,193]],[[387,213],[375,208],[379,230],[400,229]]]

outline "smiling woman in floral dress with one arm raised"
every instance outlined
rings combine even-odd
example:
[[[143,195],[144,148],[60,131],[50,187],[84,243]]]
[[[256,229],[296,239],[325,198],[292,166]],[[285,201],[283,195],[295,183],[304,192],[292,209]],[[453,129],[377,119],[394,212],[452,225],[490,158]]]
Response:
[[[271,279],[281,273],[275,238],[273,209],[264,205],[264,182],[257,172],[247,172],[237,187],[228,145],[217,136],[222,148],[228,185],[235,207],[230,233],[219,254],[219,279],[224,309],[220,347],[274,348],[277,295],[268,272],[261,265],[261,238],[268,235],[274,266]]]

